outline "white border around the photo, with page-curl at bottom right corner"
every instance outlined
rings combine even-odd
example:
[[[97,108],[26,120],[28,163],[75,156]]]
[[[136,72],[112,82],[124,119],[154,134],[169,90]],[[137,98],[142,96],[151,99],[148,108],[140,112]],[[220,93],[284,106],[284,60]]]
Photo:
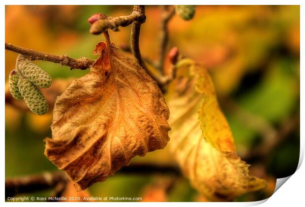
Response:
[[[111,0],[111,1],[97,1],[97,0],[30,0],[30,1],[21,1],[21,0],[2,0],[2,7],[1,7],[1,16],[2,16],[2,21],[1,21],[1,28],[5,28],[5,4],[49,4],[49,5],[54,5],[54,4],[79,4],[79,5],[97,5],[97,4],[111,4],[111,5],[126,5],[126,4],[146,4],[146,5],[157,5],[157,4],[194,4],[194,5],[200,5],[200,4],[205,4],[205,5],[238,5],[238,4],[250,4],[250,5],[268,5],[268,4],[276,4],[276,5],[282,5],[282,4],[294,4],[294,5],[301,5],[301,67],[303,70],[305,69],[304,65],[304,38],[305,38],[305,4],[301,0],[218,0],[215,2],[214,0],[187,0],[187,1],[182,1],[182,0],[147,0],[147,1],[139,1],[139,0],[133,0],[133,1],[128,1],[124,2],[122,0]],[[5,41],[5,36],[4,32],[1,32],[1,41],[2,45],[4,44]],[[4,105],[4,48],[1,50],[1,74],[2,74],[2,79],[1,79],[1,87],[3,87],[0,90],[1,93],[1,102],[0,102],[0,108],[2,109],[2,113],[5,111],[5,105]],[[301,69],[301,79],[305,80],[304,77],[304,71]],[[301,81],[301,106],[305,105],[304,101],[304,82]],[[4,142],[4,137],[5,137],[5,127],[4,127],[4,115],[1,116],[0,119],[1,122],[1,203],[4,203],[4,156],[5,156],[5,142]],[[304,110],[301,108],[301,129],[305,128],[304,124]],[[300,160],[299,160],[299,165],[298,165],[298,170],[297,172],[292,175],[287,182],[283,185],[283,187],[279,188],[272,197],[269,199],[266,199],[264,201],[258,201],[258,202],[245,202],[245,203],[118,203],[118,205],[126,205],[126,206],[152,206],[154,207],[155,205],[166,205],[166,206],[182,206],[182,205],[192,205],[192,206],[228,206],[228,207],[236,207],[236,206],[255,206],[258,204],[261,204],[261,206],[264,207],[269,207],[269,206],[282,206],[282,205],[293,205],[293,206],[300,206],[301,204],[304,204],[304,191],[303,191],[303,184],[305,183],[305,178],[303,175],[305,175],[305,167],[304,165],[302,166],[302,161],[304,158],[304,131],[301,130],[301,148],[300,148]],[[11,206],[11,205],[25,205],[25,206],[41,206],[41,203],[5,203],[5,206]],[[54,205],[53,203],[43,203],[43,205]],[[57,203],[56,205],[102,205],[102,206],[110,206],[114,205],[114,203]]]

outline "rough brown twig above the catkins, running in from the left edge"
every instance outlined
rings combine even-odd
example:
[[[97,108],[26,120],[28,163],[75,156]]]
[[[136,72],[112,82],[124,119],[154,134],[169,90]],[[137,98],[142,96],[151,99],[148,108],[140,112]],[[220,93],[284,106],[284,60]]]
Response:
[[[60,56],[53,55],[50,53],[40,52],[33,49],[23,48],[6,42],[5,42],[5,50],[10,50],[15,53],[25,55],[30,60],[39,59],[49,62],[61,63],[61,65],[69,66],[71,69],[85,70],[89,68],[94,62],[94,59],[89,59],[85,57],[82,57],[80,59],[73,59],[67,55],[60,55]]]

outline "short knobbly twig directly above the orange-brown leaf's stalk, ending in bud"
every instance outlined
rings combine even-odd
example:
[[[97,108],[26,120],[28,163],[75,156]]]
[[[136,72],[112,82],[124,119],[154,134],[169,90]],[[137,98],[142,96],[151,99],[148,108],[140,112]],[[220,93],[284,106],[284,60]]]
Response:
[[[126,27],[135,21],[145,22],[145,12],[142,9],[144,9],[144,6],[135,5],[130,15],[100,19],[91,25],[90,33],[101,34],[106,29],[118,31],[119,26]]]

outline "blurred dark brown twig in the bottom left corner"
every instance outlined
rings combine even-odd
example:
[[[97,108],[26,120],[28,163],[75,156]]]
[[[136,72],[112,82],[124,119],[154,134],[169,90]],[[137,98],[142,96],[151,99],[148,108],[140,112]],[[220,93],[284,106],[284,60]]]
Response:
[[[59,182],[66,182],[63,172],[43,173],[41,175],[5,179],[5,199],[21,193],[29,193],[55,187]]]

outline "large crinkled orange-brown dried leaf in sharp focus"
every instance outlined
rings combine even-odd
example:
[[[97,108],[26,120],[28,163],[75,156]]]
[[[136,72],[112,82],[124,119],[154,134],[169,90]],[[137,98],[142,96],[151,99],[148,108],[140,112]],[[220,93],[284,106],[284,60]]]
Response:
[[[132,157],[164,148],[169,110],[152,78],[114,45],[96,45],[100,57],[56,100],[45,155],[76,190],[103,181]]]

